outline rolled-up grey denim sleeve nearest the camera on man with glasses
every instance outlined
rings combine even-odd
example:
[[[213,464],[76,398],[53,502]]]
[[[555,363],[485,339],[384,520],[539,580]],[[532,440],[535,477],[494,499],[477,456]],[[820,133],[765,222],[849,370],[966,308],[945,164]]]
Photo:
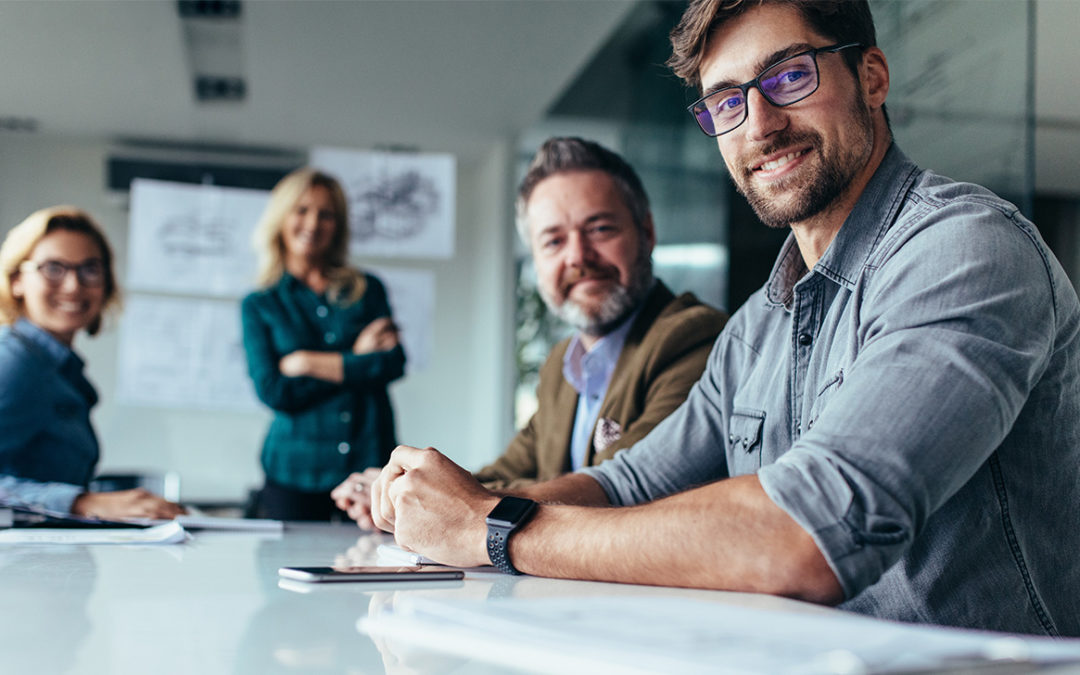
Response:
[[[1002,443],[1052,351],[1053,284],[1031,233],[994,208],[928,218],[890,232],[903,241],[849,300],[856,353],[842,386],[758,472],[848,597]]]

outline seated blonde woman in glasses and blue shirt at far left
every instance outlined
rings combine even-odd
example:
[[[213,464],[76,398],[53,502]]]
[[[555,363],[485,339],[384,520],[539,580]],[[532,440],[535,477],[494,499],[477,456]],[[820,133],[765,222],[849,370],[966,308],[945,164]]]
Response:
[[[97,334],[118,295],[108,242],[78,208],[38,211],[0,246],[0,501],[102,518],[183,512],[144,489],[86,489],[97,392],[72,342]]]

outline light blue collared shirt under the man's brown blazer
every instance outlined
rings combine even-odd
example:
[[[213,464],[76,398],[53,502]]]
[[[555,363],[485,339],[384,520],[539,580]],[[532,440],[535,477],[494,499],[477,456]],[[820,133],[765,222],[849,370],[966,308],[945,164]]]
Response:
[[[598,339],[593,348],[585,350],[581,334],[576,333],[563,355],[563,377],[578,392],[578,410],[573,416],[573,432],[570,434],[570,468],[585,465],[589,442],[592,440],[596,416],[599,415],[611,374],[619,362],[622,346],[626,341],[634,320],[640,308],[635,310],[619,326]]]

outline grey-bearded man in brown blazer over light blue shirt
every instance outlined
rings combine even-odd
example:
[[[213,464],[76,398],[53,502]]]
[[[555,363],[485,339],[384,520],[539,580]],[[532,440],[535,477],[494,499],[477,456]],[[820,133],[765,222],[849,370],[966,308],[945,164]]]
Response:
[[[577,330],[540,369],[536,415],[475,474],[489,487],[546,481],[633,445],[683,403],[727,320],[652,276],[645,188],[595,143],[541,146],[517,191],[517,228],[544,303]],[[353,474],[330,495],[364,527],[377,476]]]

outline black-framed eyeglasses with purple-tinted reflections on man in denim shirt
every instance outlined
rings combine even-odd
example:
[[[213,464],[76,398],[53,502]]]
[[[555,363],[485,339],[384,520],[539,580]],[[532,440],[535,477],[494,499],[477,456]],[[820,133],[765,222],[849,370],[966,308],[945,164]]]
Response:
[[[687,110],[701,131],[710,136],[723,136],[746,121],[746,94],[751,87],[761,92],[766,100],[780,108],[798,103],[818,91],[818,54],[835,54],[853,46],[863,45],[859,42],[832,44],[782,58],[750,82],[705,94]]]

